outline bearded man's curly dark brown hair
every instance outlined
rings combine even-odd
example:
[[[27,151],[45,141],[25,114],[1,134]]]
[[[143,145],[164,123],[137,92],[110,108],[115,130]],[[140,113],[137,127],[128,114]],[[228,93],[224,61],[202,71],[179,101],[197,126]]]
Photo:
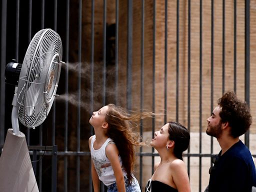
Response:
[[[231,135],[235,138],[245,133],[251,125],[252,118],[246,102],[239,100],[233,91],[228,91],[218,99],[221,107],[219,116],[221,122],[228,122]]]

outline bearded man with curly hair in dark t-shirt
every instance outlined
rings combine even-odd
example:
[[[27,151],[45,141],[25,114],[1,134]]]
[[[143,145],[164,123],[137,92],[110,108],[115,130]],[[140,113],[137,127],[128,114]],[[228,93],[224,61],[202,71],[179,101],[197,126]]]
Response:
[[[251,125],[249,107],[228,91],[207,118],[206,133],[221,147],[210,167],[208,191],[251,191],[256,186],[256,169],[249,149],[239,140]]]

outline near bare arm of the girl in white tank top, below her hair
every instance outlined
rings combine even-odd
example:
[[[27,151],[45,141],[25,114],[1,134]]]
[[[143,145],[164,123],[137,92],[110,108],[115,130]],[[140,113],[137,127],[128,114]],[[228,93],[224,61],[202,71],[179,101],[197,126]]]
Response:
[[[125,192],[124,177],[118,159],[118,149],[114,143],[109,143],[106,146],[106,157],[109,159],[113,168],[118,192]]]

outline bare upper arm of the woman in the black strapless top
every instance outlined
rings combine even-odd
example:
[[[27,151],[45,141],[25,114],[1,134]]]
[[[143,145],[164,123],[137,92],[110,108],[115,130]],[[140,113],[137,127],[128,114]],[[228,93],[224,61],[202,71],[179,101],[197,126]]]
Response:
[[[176,159],[170,165],[172,179],[179,192],[190,192],[189,178],[186,171],[185,163]]]

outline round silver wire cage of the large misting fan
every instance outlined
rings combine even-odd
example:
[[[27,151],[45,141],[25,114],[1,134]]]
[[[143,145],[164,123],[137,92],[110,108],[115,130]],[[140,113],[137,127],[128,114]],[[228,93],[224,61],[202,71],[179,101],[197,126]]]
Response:
[[[28,45],[18,80],[17,113],[26,127],[40,125],[53,103],[61,69],[62,43],[52,29],[39,30]]]

